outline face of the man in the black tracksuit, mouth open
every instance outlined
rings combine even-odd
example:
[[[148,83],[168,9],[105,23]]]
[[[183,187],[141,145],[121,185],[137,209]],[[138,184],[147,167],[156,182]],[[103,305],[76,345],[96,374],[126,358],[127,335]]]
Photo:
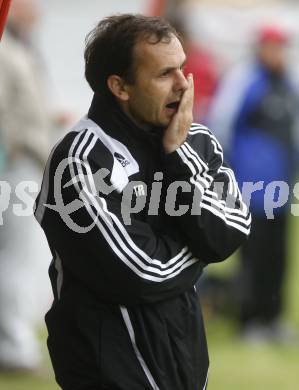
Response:
[[[186,56],[174,35],[169,42],[137,43],[135,82],[127,84],[124,111],[141,126],[167,127],[188,83],[183,74]]]

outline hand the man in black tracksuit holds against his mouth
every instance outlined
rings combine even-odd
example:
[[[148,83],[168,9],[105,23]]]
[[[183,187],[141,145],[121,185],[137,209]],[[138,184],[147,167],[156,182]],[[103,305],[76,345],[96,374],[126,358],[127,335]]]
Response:
[[[183,93],[178,111],[164,133],[163,146],[167,154],[174,152],[185,142],[193,121],[194,84],[192,74],[187,76],[187,81],[188,88]]]

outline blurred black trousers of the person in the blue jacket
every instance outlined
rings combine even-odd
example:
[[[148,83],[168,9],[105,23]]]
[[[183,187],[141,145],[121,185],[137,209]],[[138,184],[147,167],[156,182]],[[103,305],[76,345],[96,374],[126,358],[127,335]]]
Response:
[[[240,320],[270,323],[281,313],[286,269],[287,213],[273,220],[253,215],[252,230],[241,251]]]

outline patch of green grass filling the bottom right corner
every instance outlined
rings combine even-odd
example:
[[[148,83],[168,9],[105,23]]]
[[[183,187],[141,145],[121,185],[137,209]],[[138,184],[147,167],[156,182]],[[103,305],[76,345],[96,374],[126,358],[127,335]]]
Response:
[[[299,349],[292,346],[246,345],[221,320],[208,327],[209,390],[295,390]]]

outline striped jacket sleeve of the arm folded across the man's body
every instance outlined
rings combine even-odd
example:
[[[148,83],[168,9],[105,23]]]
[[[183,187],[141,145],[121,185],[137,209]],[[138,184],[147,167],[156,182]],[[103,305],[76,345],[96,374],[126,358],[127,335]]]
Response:
[[[75,138],[66,158],[54,153],[35,212],[54,263],[62,267],[62,291],[67,288],[67,277],[75,278],[75,283],[87,287],[100,301],[129,305],[164,300],[193,288],[203,262],[178,237],[158,235],[136,217],[129,225],[123,223],[122,194],[115,189],[106,191],[111,172],[105,185],[96,179],[101,161],[106,166],[117,161],[89,135],[85,143],[88,132],[86,137]],[[64,160],[63,174],[58,177],[58,161]],[[48,203],[45,208],[43,199]]]

